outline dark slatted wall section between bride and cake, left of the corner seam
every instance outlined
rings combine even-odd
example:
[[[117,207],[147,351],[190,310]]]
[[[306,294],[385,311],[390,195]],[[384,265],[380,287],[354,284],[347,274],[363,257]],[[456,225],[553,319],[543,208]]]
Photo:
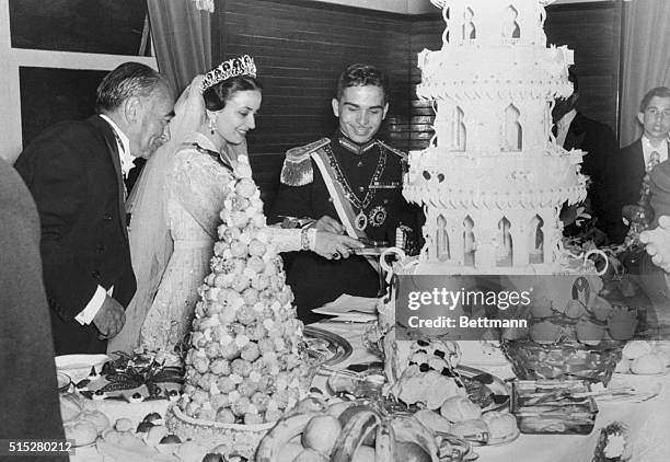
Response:
[[[266,204],[274,199],[286,150],[336,129],[331,100],[349,63],[376,65],[390,74],[381,135],[400,149],[409,147],[409,16],[297,0],[219,5],[219,58],[252,55],[264,85],[249,150]]]

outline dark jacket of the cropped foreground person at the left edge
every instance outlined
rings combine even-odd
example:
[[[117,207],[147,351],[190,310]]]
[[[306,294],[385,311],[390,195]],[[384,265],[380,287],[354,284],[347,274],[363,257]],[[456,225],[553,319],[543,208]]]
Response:
[[[2,159],[0,217],[0,438],[61,440],[51,327],[39,259],[39,220],[21,177]]]

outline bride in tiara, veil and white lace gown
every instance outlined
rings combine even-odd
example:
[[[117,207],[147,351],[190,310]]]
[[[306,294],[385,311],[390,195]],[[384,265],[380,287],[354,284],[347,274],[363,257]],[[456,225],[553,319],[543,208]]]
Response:
[[[171,141],[147,163],[129,199],[138,290],[108,351],[172,350],[188,333],[209,273],[226,186],[255,128],[262,85],[249,56],[196,77],[175,105]],[[279,252],[347,257],[358,241],[315,229],[269,228]]]

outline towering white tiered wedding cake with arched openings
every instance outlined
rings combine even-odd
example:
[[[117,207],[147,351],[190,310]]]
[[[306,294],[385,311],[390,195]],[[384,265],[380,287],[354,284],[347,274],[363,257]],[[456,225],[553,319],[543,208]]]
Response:
[[[436,118],[404,183],[426,213],[413,273],[556,272],[561,206],[586,188],[584,153],[567,152],[551,131],[554,100],[573,92],[573,51],[546,46],[552,1],[431,0],[446,28],[442,48],[418,56],[417,93]]]

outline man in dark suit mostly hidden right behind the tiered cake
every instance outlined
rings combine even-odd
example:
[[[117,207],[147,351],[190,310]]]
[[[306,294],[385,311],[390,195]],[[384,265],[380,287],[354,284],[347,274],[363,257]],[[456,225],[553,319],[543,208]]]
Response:
[[[619,145],[609,126],[586,117],[575,108],[579,99],[579,81],[571,70],[568,73],[568,80],[573,82],[573,94],[568,99],[557,100],[552,111],[554,136],[556,143],[564,149],[568,151],[580,149],[587,153],[581,162],[581,173],[590,178],[587,203],[591,213],[598,219],[598,228],[605,231],[601,224],[602,213],[608,203],[603,188],[609,159],[619,151]],[[564,208],[562,218],[569,215],[566,213],[567,210],[568,208]],[[565,233],[568,235],[578,231],[575,224],[565,228]]]

